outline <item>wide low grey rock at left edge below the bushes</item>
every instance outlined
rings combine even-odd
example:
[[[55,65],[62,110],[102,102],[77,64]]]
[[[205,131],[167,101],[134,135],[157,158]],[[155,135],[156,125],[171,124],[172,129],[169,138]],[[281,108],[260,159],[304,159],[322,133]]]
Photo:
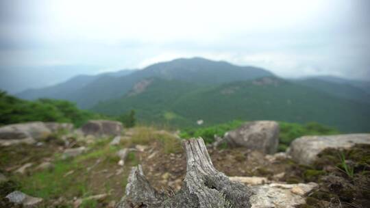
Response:
[[[43,122],[26,122],[0,127],[0,145],[34,144],[51,135],[51,131]]]

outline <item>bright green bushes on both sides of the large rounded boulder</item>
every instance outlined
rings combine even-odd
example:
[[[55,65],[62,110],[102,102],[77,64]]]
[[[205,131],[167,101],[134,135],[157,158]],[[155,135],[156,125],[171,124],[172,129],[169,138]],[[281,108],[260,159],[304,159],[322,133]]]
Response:
[[[237,129],[243,125],[243,121],[234,120],[221,125],[214,125],[211,127],[187,128],[181,131],[181,138],[197,138],[201,137],[206,143],[214,142],[214,135],[222,137],[227,131]],[[325,127],[317,122],[309,122],[306,125],[299,125],[297,123],[279,122],[280,138],[279,151],[285,151],[293,140],[304,135],[332,135],[340,133],[338,130]]]

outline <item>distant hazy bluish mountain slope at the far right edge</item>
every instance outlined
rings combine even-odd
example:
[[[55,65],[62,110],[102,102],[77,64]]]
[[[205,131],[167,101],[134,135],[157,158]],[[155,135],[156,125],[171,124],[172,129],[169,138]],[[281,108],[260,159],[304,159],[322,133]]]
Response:
[[[336,77],[331,77],[331,79],[321,79],[319,77],[315,77],[294,81],[295,83],[314,88],[342,99],[349,99],[360,103],[370,103],[370,94],[365,90],[354,86],[354,83],[356,83],[355,81],[336,81],[337,79],[335,78]]]

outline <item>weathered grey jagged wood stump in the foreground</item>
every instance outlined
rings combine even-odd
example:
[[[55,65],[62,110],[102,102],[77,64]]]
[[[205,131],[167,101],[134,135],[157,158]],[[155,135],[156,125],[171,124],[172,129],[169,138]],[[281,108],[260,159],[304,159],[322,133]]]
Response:
[[[126,196],[116,208],[251,207],[251,190],[241,183],[230,181],[214,168],[203,139],[184,140],[183,146],[186,150],[186,177],[179,192],[173,196],[157,192],[139,165],[132,168]]]

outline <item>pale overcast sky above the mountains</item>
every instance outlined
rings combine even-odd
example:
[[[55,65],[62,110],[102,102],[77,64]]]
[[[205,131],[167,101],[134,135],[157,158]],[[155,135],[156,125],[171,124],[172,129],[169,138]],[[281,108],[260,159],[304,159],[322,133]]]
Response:
[[[177,57],[261,66],[282,77],[370,79],[370,1],[1,0],[0,68],[69,76]]]

